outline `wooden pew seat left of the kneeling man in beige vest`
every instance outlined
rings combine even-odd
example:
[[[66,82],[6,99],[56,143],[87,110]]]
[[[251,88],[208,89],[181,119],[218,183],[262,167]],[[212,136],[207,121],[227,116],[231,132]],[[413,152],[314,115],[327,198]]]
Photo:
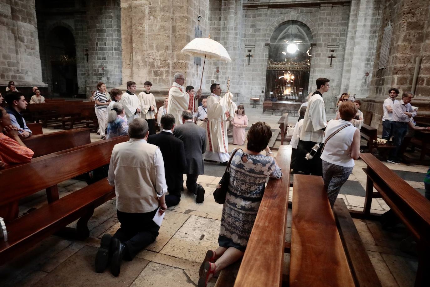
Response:
[[[87,221],[95,207],[114,197],[114,187],[105,178],[7,223],[8,241],[0,241],[0,265],[13,258],[17,250],[27,250],[34,242],[54,234],[76,219]],[[77,238],[88,236],[86,224],[78,221]]]

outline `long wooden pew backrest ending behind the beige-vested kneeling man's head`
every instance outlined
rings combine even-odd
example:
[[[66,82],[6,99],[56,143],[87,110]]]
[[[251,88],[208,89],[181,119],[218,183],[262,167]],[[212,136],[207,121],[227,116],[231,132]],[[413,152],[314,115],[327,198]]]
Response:
[[[108,164],[114,145],[128,139],[129,136],[119,136],[92,142],[37,157],[27,164],[13,165],[0,170],[0,203],[18,201],[37,191]]]

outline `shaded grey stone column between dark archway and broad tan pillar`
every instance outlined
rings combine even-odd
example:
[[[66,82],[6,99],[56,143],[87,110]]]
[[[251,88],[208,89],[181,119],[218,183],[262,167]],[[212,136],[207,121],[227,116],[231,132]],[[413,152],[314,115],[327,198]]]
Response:
[[[88,79],[86,92],[95,90],[98,82],[107,89],[122,82],[120,0],[87,2]]]

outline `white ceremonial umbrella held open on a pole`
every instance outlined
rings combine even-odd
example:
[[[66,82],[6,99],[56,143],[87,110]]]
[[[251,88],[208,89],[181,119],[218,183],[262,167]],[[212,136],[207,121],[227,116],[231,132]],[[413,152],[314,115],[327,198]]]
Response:
[[[225,62],[231,62],[230,55],[228,55],[227,50],[217,41],[210,38],[195,38],[191,40],[182,50],[181,53],[188,54],[194,57],[205,57],[203,61],[203,71],[205,70],[206,58],[221,60]],[[203,81],[203,71],[202,78],[200,79],[200,88],[202,87]]]

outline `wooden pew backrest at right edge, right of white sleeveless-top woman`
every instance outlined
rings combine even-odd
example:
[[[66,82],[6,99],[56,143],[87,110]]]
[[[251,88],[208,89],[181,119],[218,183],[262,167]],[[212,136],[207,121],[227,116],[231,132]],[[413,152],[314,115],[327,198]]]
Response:
[[[430,201],[378,160],[373,154],[361,154],[377,190],[416,237],[430,238]]]

